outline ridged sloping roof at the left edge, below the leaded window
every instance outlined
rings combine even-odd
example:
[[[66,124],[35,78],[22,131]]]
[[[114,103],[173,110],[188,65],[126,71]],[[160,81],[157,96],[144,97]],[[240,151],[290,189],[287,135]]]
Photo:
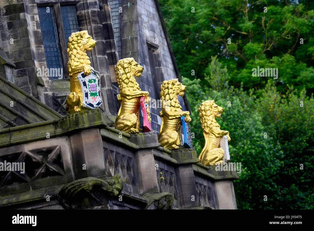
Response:
[[[61,117],[61,114],[0,77],[0,129]]]

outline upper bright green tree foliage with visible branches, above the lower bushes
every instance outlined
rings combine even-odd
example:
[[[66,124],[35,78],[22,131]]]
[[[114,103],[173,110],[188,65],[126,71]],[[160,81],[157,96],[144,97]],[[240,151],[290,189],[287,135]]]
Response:
[[[260,66],[278,68],[280,91],[289,84],[314,92],[311,1],[160,0],[160,5],[183,76],[203,81],[210,57],[218,55],[236,87],[241,82],[245,90],[265,87],[269,77],[252,77],[252,68]]]

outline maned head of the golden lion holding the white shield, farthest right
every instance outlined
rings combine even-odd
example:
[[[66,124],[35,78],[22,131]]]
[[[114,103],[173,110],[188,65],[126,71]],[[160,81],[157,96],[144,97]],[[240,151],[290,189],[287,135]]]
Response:
[[[205,132],[209,132],[209,129],[213,127],[220,127],[219,124],[216,122],[215,116],[220,118],[223,108],[219,107],[215,104],[214,100],[207,100],[198,108],[198,115],[201,119],[202,129]]]

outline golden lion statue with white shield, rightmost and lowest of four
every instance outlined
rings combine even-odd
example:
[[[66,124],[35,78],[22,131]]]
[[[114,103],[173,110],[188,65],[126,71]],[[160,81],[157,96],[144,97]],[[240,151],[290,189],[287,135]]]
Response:
[[[205,137],[205,146],[199,155],[200,163],[206,166],[222,163],[224,159],[224,150],[219,148],[221,137],[226,135],[230,141],[229,132],[220,130],[215,116],[220,118],[222,107],[215,104],[214,100],[207,100],[198,108],[198,115],[201,119],[203,135]]]

